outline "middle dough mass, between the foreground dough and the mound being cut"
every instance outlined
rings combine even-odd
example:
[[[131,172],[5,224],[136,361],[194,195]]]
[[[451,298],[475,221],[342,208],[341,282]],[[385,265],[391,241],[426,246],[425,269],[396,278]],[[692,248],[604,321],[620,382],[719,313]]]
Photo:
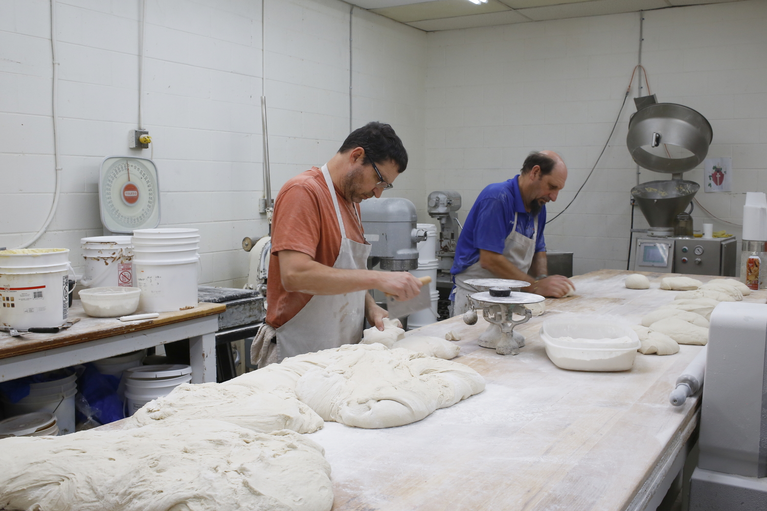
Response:
[[[256,433],[281,429],[314,433],[324,424],[314,410],[298,400],[291,387],[262,391],[246,385],[182,383],[164,398],[146,403],[127,419],[123,429],[148,424],[178,427],[194,419],[227,421]]]

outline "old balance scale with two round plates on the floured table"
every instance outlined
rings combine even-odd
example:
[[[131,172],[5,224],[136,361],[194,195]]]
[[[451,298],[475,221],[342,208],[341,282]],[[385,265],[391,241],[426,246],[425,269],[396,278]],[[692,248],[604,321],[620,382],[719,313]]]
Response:
[[[527,284],[519,280],[503,279],[476,279],[476,280],[497,280],[501,283]],[[471,281],[467,281],[469,283]],[[477,284],[470,284],[476,286]],[[489,287],[489,290],[480,293],[474,293],[469,296],[469,305],[471,310],[463,314],[463,322],[467,325],[474,325],[477,322],[477,311],[482,310],[482,317],[491,325],[479,336],[479,346],[483,348],[495,349],[499,355],[517,355],[519,349],[525,346],[525,336],[515,332],[514,328],[522,323],[527,323],[532,317],[532,311],[525,305],[529,303],[539,303],[545,300],[543,296],[532,293],[519,293],[512,291],[509,284]],[[522,316],[521,319],[514,319],[514,315]]]

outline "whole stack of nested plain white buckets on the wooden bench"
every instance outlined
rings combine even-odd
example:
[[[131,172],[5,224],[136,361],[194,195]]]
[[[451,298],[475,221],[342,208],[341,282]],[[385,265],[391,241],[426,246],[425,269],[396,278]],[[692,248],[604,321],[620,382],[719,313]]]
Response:
[[[140,311],[165,313],[197,305],[198,229],[138,229],[132,243]]]

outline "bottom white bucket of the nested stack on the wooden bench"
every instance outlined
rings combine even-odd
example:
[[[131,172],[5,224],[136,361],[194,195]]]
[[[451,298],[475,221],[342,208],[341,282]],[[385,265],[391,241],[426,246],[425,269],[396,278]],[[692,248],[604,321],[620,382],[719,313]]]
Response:
[[[134,260],[141,289],[139,310],[165,313],[197,305],[199,256],[182,260]]]

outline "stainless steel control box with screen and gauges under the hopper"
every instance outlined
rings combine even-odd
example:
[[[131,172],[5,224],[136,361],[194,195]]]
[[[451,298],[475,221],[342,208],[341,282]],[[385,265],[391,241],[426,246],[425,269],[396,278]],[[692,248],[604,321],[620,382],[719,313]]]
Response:
[[[644,237],[637,239],[634,270],[735,277],[736,238]]]

